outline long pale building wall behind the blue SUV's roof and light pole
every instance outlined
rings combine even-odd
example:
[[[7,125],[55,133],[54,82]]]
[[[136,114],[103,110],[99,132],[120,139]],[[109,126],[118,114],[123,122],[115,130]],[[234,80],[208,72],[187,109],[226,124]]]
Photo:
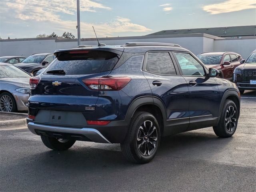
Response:
[[[100,43],[106,45],[123,45],[127,42],[162,42],[174,43],[190,50],[195,55],[204,51],[203,38],[199,37],[175,37],[175,38],[136,38],[132,39],[115,39],[115,40],[100,40]],[[97,45],[95,40],[81,41],[84,45]],[[76,41],[55,41],[50,40],[14,40],[0,41],[0,56],[30,56],[34,53],[51,53],[56,49],[76,48]]]

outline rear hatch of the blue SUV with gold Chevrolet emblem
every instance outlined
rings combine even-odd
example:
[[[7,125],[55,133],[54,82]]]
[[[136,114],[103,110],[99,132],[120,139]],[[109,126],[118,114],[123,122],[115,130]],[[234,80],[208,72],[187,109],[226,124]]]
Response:
[[[31,81],[35,88],[31,89],[29,114],[46,124],[87,125],[82,112],[94,112],[99,91],[84,82],[108,76],[122,52],[121,47],[56,51],[56,59]]]

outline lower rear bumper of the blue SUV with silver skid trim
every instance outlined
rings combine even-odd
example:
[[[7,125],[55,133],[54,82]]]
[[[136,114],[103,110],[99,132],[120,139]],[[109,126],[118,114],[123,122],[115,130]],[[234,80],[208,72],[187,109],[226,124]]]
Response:
[[[28,129],[36,135],[91,141],[96,143],[122,143],[128,131],[130,119],[112,121],[106,126],[75,128],[56,124],[42,124],[27,118]]]

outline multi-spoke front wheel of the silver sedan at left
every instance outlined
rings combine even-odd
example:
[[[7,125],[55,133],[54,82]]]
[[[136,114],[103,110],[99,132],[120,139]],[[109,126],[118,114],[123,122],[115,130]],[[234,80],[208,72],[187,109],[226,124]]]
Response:
[[[8,92],[0,94],[0,111],[17,112],[17,104],[12,94]]]

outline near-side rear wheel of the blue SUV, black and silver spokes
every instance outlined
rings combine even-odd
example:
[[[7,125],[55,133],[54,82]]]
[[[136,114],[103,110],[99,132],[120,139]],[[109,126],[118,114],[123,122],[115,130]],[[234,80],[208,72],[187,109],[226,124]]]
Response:
[[[136,112],[121,143],[126,159],[138,164],[148,163],[156,155],[159,144],[160,128],[156,118],[148,112]]]

